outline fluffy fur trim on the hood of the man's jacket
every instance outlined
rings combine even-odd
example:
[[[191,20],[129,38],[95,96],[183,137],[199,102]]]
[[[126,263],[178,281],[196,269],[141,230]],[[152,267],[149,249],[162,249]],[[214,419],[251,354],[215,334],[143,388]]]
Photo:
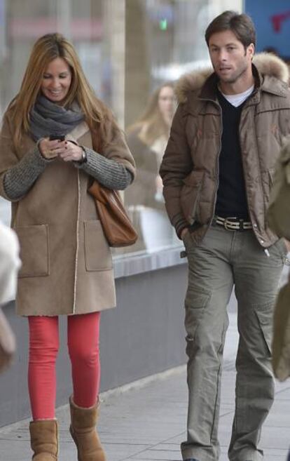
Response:
[[[273,76],[284,83],[289,83],[290,72],[286,63],[271,53],[258,53],[254,56],[253,64],[261,75]],[[188,93],[202,88],[207,78],[213,73],[212,67],[189,72],[180,77],[175,86],[175,93],[179,102],[186,102]]]

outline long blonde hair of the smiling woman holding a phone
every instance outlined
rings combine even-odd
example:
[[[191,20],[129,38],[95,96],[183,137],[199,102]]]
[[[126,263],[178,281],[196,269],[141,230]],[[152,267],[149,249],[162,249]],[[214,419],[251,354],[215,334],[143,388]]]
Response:
[[[71,70],[71,86],[62,105],[69,107],[73,101],[78,102],[90,130],[94,132],[100,129],[103,137],[105,122],[109,119],[115,123],[109,109],[96,97],[88,83],[74,46],[61,34],[46,34],[35,42],[20,91],[11,102],[16,126],[13,141],[16,146],[20,145],[22,135],[29,133],[30,111],[41,91],[43,74],[55,58],[62,58]]]

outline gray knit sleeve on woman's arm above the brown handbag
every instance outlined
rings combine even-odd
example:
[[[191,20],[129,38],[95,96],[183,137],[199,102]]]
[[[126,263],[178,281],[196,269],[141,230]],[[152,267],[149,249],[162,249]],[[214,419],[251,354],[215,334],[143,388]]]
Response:
[[[83,149],[85,149],[87,161],[85,163],[75,162],[77,168],[81,168],[108,189],[123,190],[131,184],[132,175],[122,163],[106,159],[87,147]]]

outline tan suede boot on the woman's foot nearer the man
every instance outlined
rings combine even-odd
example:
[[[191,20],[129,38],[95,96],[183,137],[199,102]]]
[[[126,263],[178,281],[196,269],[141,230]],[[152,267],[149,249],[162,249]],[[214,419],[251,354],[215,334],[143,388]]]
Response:
[[[69,399],[71,427],[69,431],[78,449],[78,461],[106,461],[106,455],[97,434],[99,405],[81,408]]]

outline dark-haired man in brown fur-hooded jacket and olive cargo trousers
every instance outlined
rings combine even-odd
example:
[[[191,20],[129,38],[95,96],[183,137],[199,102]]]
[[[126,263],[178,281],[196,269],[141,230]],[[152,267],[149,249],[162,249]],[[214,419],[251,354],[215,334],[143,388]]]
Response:
[[[167,213],[188,256],[186,461],[219,458],[221,366],[235,285],[240,342],[235,417],[228,455],[258,461],[261,426],[272,405],[272,307],[287,253],[265,212],[282,138],[290,132],[289,73],[279,58],[252,64],[255,29],[226,11],[207,27],[214,73],[177,84],[160,175]],[[258,72],[258,69],[260,72]]]

